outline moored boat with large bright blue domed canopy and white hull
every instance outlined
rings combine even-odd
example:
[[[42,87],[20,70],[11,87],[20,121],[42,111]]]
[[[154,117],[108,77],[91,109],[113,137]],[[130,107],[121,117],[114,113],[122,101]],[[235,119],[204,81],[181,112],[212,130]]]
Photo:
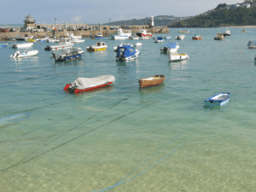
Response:
[[[134,49],[131,45],[123,45],[118,48],[118,52],[116,54],[117,61],[130,61],[137,59],[140,51],[138,49]]]

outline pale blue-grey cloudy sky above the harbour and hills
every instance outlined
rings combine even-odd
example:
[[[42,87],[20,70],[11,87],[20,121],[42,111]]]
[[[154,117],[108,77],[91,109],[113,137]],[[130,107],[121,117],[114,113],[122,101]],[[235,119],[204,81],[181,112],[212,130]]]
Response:
[[[108,23],[115,20],[143,19],[151,15],[189,16],[214,9],[219,3],[237,0],[0,0],[0,24],[22,24],[30,14],[37,24]]]

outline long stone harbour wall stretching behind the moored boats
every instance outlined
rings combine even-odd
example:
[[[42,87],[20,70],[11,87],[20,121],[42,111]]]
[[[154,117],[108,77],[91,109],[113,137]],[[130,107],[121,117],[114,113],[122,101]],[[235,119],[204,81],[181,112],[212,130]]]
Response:
[[[55,35],[55,38],[65,37],[67,36],[67,32],[73,32],[74,35],[81,35],[84,38],[88,38],[91,35],[94,36],[98,32],[103,32],[105,35],[111,35],[115,32],[115,30],[110,30],[108,26],[102,26],[102,30],[87,30],[87,31],[55,31],[55,32],[1,32],[0,40],[8,40],[9,38],[15,38],[17,36],[21,37],[34,37],[34,38],[44,38],[44,37],[52,37]],[[134,26],[130,30],[132,33],[136,33],[141,30],[142,26]],[[152,34],[156,33],[169,33],[169,28],[151,28],[147,29],[147,32],[152,32]]]

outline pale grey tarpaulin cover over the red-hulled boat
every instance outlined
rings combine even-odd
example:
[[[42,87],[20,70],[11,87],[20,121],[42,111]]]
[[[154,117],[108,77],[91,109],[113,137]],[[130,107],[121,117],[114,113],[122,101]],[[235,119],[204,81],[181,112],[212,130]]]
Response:
[[[96,78],[77,78],[70,84],[70,88],[84,90],[114,81],[113,75],[102,75]]]

